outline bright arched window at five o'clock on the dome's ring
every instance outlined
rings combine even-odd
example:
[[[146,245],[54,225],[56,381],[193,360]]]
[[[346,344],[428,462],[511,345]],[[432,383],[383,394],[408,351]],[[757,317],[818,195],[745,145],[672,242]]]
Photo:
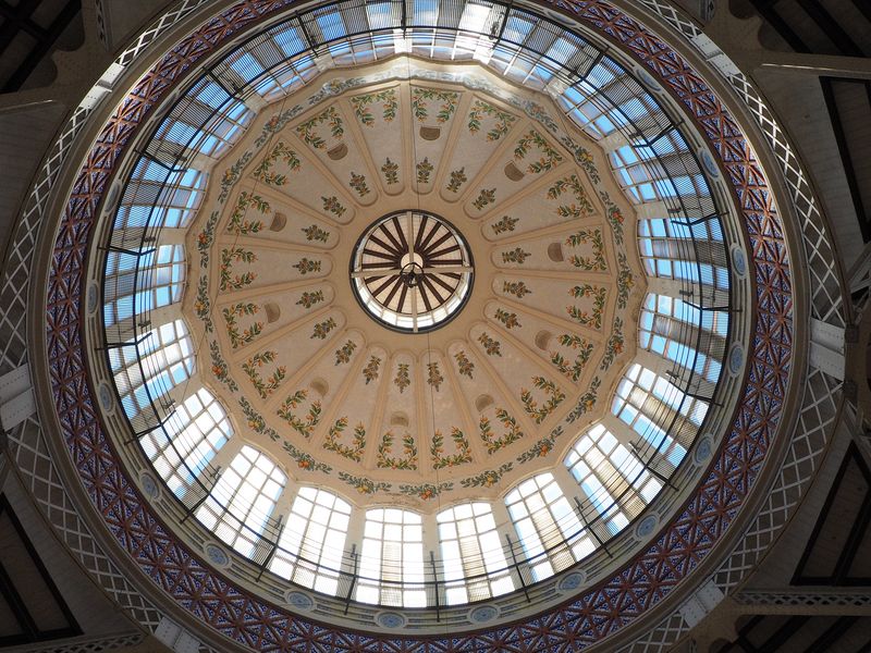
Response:
[[[553,576],[575,563],[572,550],[582,528],[575,508],[552,473],[527,479],[505,496],[508,515],[520,544],[530,559],[536,581]]]

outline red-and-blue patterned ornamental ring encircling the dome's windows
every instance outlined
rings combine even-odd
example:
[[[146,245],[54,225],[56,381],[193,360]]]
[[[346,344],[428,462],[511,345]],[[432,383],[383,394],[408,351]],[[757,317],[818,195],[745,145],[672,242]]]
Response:
[[[699,493],[668,531],[615,578],[571,603],[513,626],[456,638],[381,638],[323,628],[238,591],[173,541],[149,514],[97,423],[84,372],[81,279],[103,185],[128,137],[177,76],[241,26],[290,2],[240,3],[186,38],[157,64],[113,113],[86,159],[61,219],[47,298],[48,350],[56,405],[82,480],[110,531],[158,586],[223,634],[248,645],[381,644],[398,650],[503,650],[517,644],[585,646],[619,630],[673,590],[723,534],[756,480],[780,423],[792,362],[789,259],[764,173],[725,107],[687,62],[633,19],[600,1],[577,2],[577,17],[622,41],[692,112],[736,186],[757,273],[757,340],[736,428]],[[199,586],[199,589],[198,587]]]

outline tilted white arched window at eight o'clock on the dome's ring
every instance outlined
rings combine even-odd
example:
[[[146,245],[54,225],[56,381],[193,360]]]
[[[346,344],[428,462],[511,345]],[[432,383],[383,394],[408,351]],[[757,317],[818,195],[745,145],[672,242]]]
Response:
[[[142,438],[145,454],[177,496],[182,496],[233,436],[220,402],[205,387],[187,397],[167,420]]]

